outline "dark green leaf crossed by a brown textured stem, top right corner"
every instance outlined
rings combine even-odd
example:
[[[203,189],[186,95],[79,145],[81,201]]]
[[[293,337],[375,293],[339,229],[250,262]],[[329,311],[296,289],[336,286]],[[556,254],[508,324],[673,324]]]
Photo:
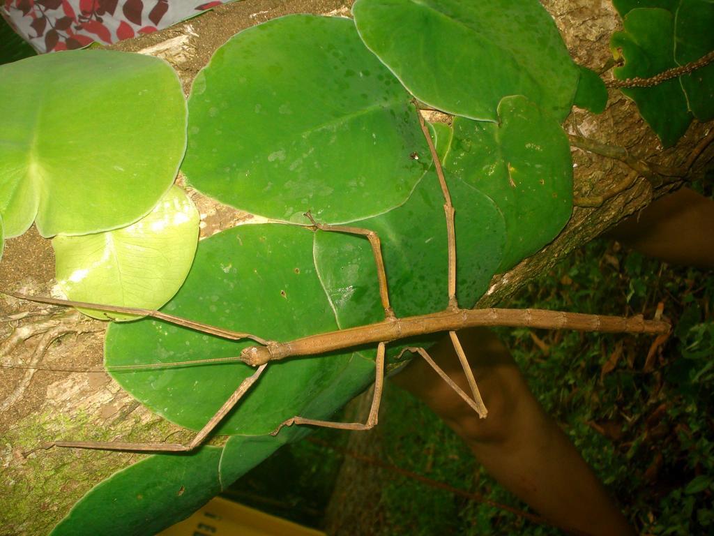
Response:
[[[624,31],[615,32],[610,41],[615,57],[625,59],[615,69],[618,79],[649,78],[714,50],[714,3],[708,0],[680,0],[674,12],[632,9],[623,26]],[[677,142],[693,117],[714,118],[714,65],[653,87],[622,91],[637,103],[665,147]]]

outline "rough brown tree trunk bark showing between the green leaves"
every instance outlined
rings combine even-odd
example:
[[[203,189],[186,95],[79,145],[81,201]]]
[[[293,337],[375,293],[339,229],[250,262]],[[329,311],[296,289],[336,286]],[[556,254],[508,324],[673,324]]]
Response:
[[[543,0],[553,15],[575,61],[602,71],[610,59],[608,42],[620,19],[608,2]],[[178,72],[188,94],[193,76],[211,54],[237,31],[288,13],[348,14],[349,0],[246,0],[221,6],[196,19],[156,34],[114,46],[164,57]],[[603,76],[610,76],[604,74]],[[640,119],[635,104],[610,90],[608,109],[600,115],[575,109],[565,122],[569,134],[622,147],[634,159],[680,167],[710,129],[695,123],[673,148],[663,151],[655,134]],[[711,154],[710,147],[708,149]],[[632,172],[617,159],[573,148],[575,195],[603,194]],[[639,177],[632,187],[601,207],[575,208],[560,236],[506,274],[494,277],[479,302],[490,307],[547,273],[559,259],[638,212],[680,181],[657,175]],[[204,234],[225,227],[237,216],[194,194],[206,214]],[[6,242],[0,264],[0,289],[49,295],[54,283],[54,257],[49,241],[31,231]],[[0,359],[26,354],[41,367],[87,367],[101,364],[104,324],[81,319],[57,307],[0,297]],[[0,535],[48,533],[74,503],[116,470],[142,455],[55,448],[24,457],[22,452],[50,440],[163,441],[177,427],[152,415],[102,372],[49,372],[2,369],[0,373]]]

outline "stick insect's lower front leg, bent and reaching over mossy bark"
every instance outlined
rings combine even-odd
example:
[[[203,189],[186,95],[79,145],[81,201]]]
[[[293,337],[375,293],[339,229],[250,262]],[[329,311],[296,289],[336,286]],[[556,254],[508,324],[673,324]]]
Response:
[[[54,441],[50,443],[44,443],[36,449],[26,452],[25,455],[29,455],[31,454],[31,452],[35,452],[36,450],[50,449],[51,447],[69,447],[76,449],[94,450],[129,450],[136,452],[187,452],[189,450],[193,450],[198,447],[198,445],[201,445],[203,440],[206,439],[206,436],[211,433],[211,431],[218,425],[218,423],[221,422],[223,417],[225,417],[226,414],[233,409],[233,406],[236,405],[238,400],[243,397],[243,394],[246,394],[248,389],[250,389],[253,384],[258,381],[258,378],[261,377],[261,374],[263,374],[263,370],[265,370],[267,366],[267,363],[261,364],[261,366],[256,369],[256,372],[253,372],[251,376],[248,376],[246,379],[243,379],[241,384],[238,385],[238,389],[236,389],[235,392],[233,392],[233,394],[228,397],[226,402],[224,402],[221,406],[221,409],[216,412],[216,415],[213,415],[213,417],[211,417],[211,420],[206,423],[206,426],[201,428],[201,430],[198,431],[198,433],[196,433],[193,439],[190,442],[186,443],[186,445],[182,445],[181,443],[154,442],[129,443],[121,441]]]

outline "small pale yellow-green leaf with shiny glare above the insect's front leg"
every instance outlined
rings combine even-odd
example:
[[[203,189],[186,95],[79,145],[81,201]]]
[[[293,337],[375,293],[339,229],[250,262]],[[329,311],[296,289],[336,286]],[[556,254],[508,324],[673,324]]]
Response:
[[[52,240],[56,278],[67,299],[159,309],[176,294],[193,262],[198,210],[173,187],[138,222],[114,231]],[[83,309],[100,319],[135,319]]]

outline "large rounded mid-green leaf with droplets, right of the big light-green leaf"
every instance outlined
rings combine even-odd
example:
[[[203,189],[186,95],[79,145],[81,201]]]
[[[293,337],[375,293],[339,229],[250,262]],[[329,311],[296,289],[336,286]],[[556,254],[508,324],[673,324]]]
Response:
[[[379,214],[408,197],[428,164],[410,95],[352,21],[286,16],[216,51],[188,99],[188,182],[273,219]]]

